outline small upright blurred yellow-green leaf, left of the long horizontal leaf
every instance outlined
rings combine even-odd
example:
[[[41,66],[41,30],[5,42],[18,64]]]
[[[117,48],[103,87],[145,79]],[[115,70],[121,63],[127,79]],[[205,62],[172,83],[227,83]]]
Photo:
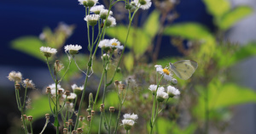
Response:
[[[160,28],[160,12],[154,10],[149,16],[148,20],[145,22],[143,26],[143,30],[148,33],[148,36],[151,38],[154,37]]]

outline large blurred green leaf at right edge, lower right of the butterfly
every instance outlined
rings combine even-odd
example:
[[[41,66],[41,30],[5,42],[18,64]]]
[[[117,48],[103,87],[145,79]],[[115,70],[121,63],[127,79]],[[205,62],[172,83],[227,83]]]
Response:
[[[198,103],[193,109],[193,113],[204,119],[206,94],[208,92],[208,109],[210,113],[216,112],[218,109],[223,109],[241,103],[256,103],[256,92],[247,87],[240,87],[234,83],[221,83],[218,80],[213,80],[207,88],[196,87],[200,91]]]

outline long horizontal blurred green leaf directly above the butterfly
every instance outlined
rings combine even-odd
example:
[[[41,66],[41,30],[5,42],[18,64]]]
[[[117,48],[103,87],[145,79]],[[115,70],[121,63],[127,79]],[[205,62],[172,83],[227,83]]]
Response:
[[[166,36],[182,36],[191,40],[213,39],[212,34],[205,26],[192,22],[168,26],[163,34]]]

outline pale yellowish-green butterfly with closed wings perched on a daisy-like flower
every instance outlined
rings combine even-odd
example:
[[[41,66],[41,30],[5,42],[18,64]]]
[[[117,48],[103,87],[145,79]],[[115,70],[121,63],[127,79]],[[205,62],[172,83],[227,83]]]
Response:
[[[197,69],[197,62],[193,60],[181,60],[177,61],[174,64],[170,63],[171,70],[179,77],[180,79],[187,80],[194,74]]]

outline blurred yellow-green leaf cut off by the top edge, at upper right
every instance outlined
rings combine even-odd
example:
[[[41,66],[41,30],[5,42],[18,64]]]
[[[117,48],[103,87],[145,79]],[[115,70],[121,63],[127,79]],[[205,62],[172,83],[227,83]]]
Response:
[[[229,0],[204,0],[204,3],[207,6],[207,11],[216,19],[230,10]]]

